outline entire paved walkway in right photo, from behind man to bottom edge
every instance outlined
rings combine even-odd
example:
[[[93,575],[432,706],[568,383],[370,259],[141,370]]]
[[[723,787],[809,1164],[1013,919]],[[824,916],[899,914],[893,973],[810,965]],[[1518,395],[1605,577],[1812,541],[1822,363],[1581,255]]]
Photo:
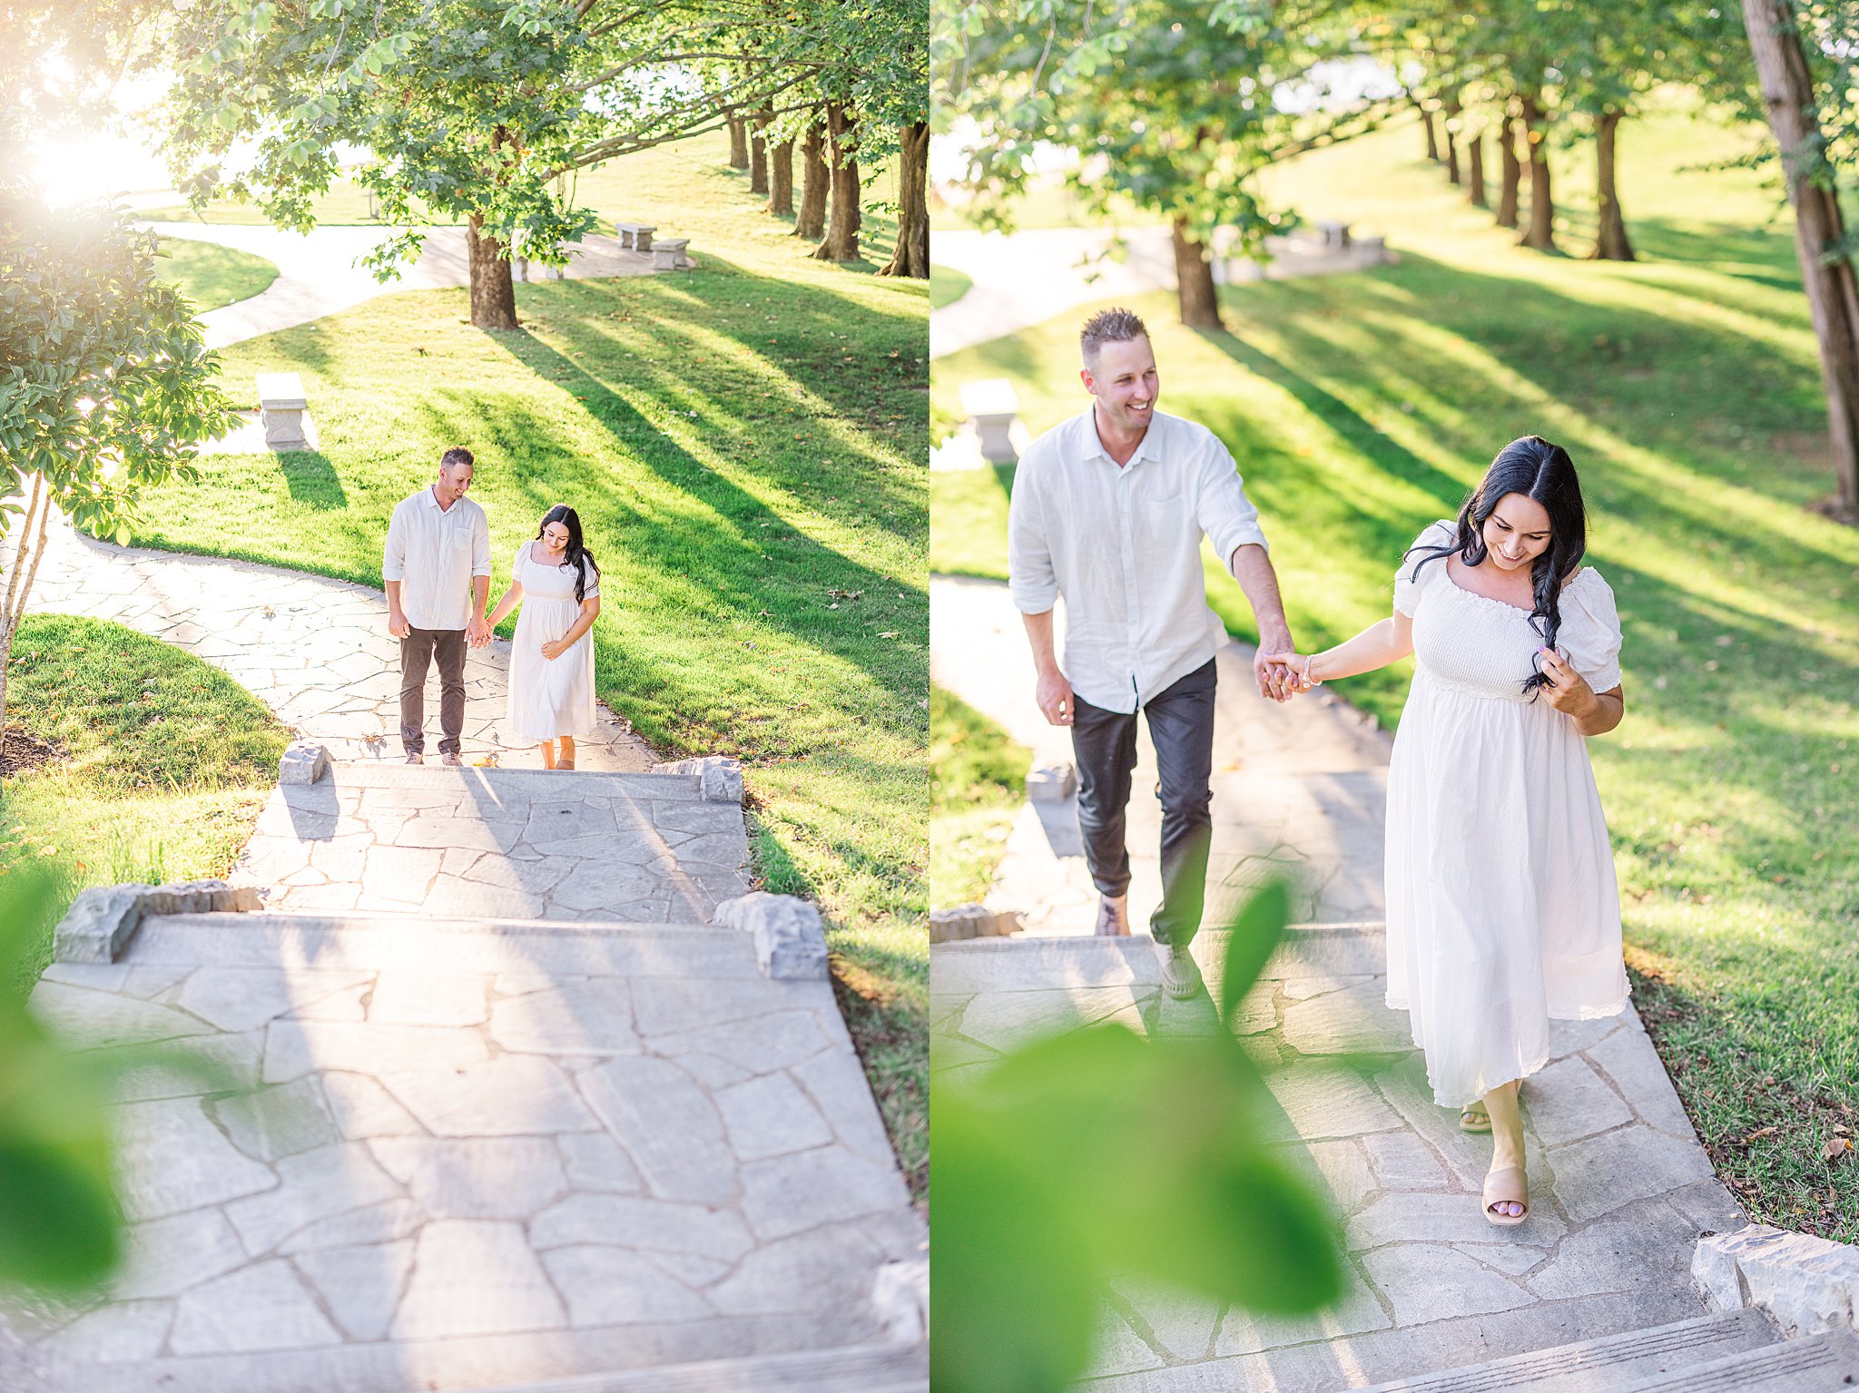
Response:
[[[931,674],[1035,760],[1071,760],[1032,704],[1032,663],[1006,587],[931,581]],[[1312,1321],[1260,1321],[1180,1293],[1119,1287],[1093,1387],[1106,1393],[1316,1393],[1699,1315],[1701,1231],[1740,1228],[1640,1020],[1558,1023],[1524,1085],[1534,1215],[1485,1224],[1491,1142],[1426,1090],[1404,1012],[1383,1007],[1381,838],[1389,741],[1331,698],[1266,702],[1251,654],[1220,654],[1210,923],[1268,869],[1301,877],[1292,944],[1229,1027],[1268,1066],[1286,1137],[1344,1220],[1353,1291]],[[1327,693],[1324,693],[1327,695]],[[1141,741],[1130,815],[1130,919],[1160,897],[1154,754]],[[1037,1033],[1099,1020],[1143,1033],[1218,1029],[1212,1005],[1167,1001],[1147,936],[1089,936],[1095,892],[1075,802],[1021,814],[987,897],[1026,914],[1017,938],[931,949],[931,1087]],[[1218,981],[1223,936],[1197,957]],[[1372,1059],[1365,1075],[1331,1068]]]

